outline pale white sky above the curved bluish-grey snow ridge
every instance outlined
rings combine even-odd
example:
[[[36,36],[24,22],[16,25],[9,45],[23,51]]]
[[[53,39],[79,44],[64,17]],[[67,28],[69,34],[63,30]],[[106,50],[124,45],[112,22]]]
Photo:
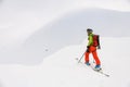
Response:
[[[130,11],[129,0],[2,0],[0,40],[22,41],[49,22],[72,11],[101,8]],[[21,39],[21,40],[20,40]]]

